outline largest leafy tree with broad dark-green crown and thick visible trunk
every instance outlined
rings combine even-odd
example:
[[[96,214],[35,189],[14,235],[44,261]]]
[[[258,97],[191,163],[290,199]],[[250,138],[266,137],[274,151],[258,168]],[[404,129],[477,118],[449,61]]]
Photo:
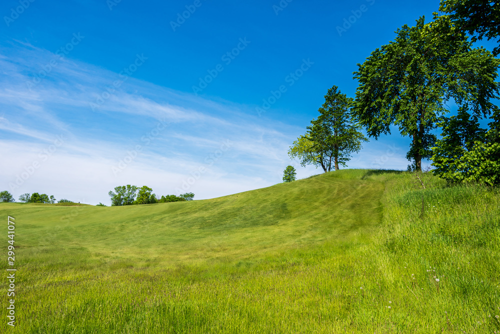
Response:
[[[371,137],[390,133],[391,125],[410,136],[406,157],[421,170],[422,158],[432,155],[432,130],[448,112],[446,101],[453,99],[481,117],[497,110],[490,98],[498,94],[499,64],[489,51],[472,49],[449,17],[427,24],[420,17],[415,26],[397,29],[393,41],[358,64],[353,111]]]

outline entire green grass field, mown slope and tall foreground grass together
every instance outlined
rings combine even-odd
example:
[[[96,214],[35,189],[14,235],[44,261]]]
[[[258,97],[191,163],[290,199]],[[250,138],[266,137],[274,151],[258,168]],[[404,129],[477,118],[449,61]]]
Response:
[[[351,169],[189,202],[1,203],[0,332],[499,332],[500,192],[424,183]]]

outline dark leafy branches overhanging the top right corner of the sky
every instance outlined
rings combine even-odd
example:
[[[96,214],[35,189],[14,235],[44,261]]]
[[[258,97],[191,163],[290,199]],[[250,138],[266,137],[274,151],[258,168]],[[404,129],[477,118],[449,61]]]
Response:
[[[498,38],[500,43],[500,4],[490,0],[441,0],[439,10],[448,13],[454,24],[472,35],[471,40]],[[500,53],[500,46],[493,55]]]

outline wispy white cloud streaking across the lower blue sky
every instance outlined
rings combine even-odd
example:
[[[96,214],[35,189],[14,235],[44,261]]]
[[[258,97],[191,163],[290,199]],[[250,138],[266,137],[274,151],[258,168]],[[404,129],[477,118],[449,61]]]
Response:
[[[51,59],[57,66],[29,87],[26,82]],[[200,199],[278,183],[288,164],[299,177],[322,171],[300,167],[287,156],[302,129],[268,123],[252,107],[130,77],[92,109],[90,103],[117,73],[59,59],[22,42],[0,48],[0,68],[0,151],[5,157],[0,187],[15,196],[41,191],[97,203],[108,202],[107,191],[120,184],[149,185],[161,195],[187,182]],[[57,136],[63,138],[60,145],[55,145]],[[224,142],[230,145],[222,150]],[[53,146],[50,155],[44,153]],[[369,167],[386,154],[386,147],[368,147],[350,167]],[[401,155],[397,151],[382,167],[399,164]],[[34,162],[39,166],[29,174]]]

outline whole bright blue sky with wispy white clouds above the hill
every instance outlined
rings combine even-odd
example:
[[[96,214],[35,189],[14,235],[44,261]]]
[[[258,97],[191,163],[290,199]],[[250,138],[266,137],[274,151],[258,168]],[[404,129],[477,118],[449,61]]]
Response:
[[[202,199],[319,173],[287,149],[326,90],[354,96],[356,63],[438,4],[4,0],[0,188],[109,204],[121,184]],[[397,133],[348,166],[405,169]]]

